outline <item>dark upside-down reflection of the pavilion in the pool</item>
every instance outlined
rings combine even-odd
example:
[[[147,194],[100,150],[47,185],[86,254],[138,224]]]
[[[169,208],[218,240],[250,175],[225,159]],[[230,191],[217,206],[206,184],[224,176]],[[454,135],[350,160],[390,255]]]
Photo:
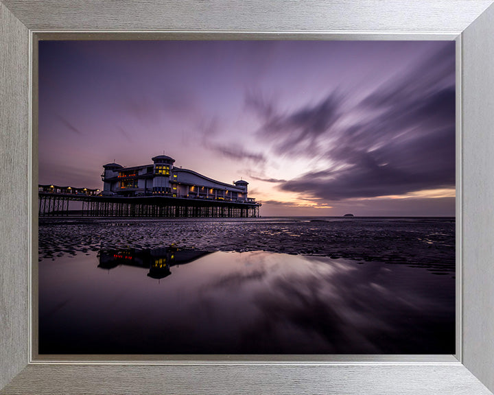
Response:
[[[142,267],[149,270],[149,277],[160,279],[172,274],[170,267],[196,261],[196,259],[210,253],[198,250],[178,250],[174,247],[154,250],[137,250],[134,248],[106,250],[98,254],[98,267],[106,270],[114,269],[120,265]]]

